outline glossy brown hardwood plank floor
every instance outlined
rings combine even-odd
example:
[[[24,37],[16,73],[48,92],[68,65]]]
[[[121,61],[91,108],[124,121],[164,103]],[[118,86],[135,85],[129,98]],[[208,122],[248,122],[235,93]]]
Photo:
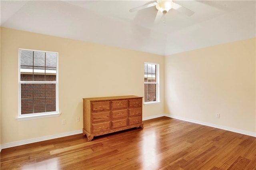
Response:
[[[3,149],[5,169],[256,170],[256,138],[168,117],[91,142],[82,134]]]

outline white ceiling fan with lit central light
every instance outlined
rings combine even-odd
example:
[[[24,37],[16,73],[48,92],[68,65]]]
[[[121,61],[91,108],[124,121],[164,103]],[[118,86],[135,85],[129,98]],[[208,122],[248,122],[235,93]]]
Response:
[[[158,13],[155,18],[155,23],[158,22],[158,20],[161,20],[162,15],[164,16],[164,25],[165,25],[165,14],[170,10],[174,9],[178,12],[181,12],[182,14],[185,14],[187,16],[192,16],[195,12],[192,10],[189,10],[188,8],[185,8],[184,6],[177,4],[176,2],[173,2],[172,0],[157,0],[153,1],[150,4],[146,4],[143,6],[139,6],[136,8],[132,8],[129,10],[129,12],[135,12],[138,10],[142,10],[145,8],[149,8],[152,6],[156,6],[156,9],[158,10]]]

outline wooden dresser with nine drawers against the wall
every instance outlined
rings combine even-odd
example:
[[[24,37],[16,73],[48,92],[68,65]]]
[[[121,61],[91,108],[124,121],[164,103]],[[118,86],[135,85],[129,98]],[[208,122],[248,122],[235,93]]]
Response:
[[[140,127],[142,123],[142,97],[117,96],[83,99],[83,135],[88,141],[94,136]]]

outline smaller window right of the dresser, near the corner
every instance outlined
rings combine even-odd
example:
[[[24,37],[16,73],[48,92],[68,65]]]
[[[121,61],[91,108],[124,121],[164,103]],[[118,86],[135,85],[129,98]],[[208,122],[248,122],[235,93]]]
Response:
[[[159,102],[158,64],[144,63],[145,103]]]

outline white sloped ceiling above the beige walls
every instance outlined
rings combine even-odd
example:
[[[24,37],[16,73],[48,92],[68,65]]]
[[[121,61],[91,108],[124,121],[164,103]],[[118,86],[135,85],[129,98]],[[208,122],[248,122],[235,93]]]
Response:
[[[156,8],[129,9],[154,1],[0,1],[1,26],[85,42],[170,55],[256,37],[256,1],[174,1],[166,26]]]

